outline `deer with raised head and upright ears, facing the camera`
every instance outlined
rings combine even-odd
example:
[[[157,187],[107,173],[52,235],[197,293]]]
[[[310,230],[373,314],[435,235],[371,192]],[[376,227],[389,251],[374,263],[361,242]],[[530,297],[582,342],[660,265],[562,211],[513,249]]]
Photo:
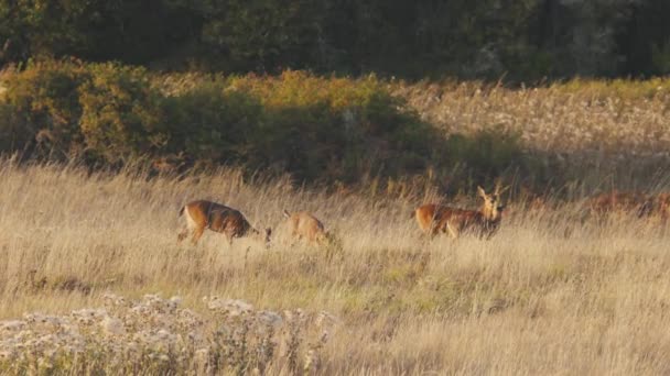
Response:
[[[507,189],[507,188],[506,188]],[[479,210],[464,210],[429,203],[419,207],[414,214],[421,230],[430,237],[439,233],[449,233],[452,239],[463,232],[473,232],[479,237],[490,239],[500,225],[500,217],[505,206],[500,203],[500,195],[506,190],[496,186],[493,195],[487,195],[482,187],[477,193],[484,200]]]

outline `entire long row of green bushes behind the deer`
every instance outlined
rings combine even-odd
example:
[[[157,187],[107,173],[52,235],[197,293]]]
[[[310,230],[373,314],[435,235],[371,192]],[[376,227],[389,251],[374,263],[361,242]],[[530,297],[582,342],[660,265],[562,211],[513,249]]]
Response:
[[[36,140],[36,150],[48,152],[37,157],[51,156],[50,147],[96,165],[180,156],[344,184],[429,169],[482,180],[522,161],[515,135],[447,139],[374,76],[156,76],[118,64],[48,60],[2,81],[0,147],[25,150]]]

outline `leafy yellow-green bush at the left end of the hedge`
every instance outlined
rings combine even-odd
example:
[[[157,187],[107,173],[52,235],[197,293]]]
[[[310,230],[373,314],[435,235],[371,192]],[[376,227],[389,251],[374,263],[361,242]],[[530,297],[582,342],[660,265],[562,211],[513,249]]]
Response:
[[[85,154],[105,163],[160,153],[169,134],[162,129],[161,93],[149,80],[141,68],[77,60],[33,62],[8,73],[6,118],[21,123],[12,125],[11,136],[20,142],[11,148],[35,141],[42,155]]]

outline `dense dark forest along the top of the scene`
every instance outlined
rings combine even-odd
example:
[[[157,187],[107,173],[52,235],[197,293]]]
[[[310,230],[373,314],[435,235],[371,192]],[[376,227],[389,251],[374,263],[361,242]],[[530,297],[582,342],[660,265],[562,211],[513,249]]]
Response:
[[[670,73],[667,0],[0,0],[0,65],[537,82]]]

